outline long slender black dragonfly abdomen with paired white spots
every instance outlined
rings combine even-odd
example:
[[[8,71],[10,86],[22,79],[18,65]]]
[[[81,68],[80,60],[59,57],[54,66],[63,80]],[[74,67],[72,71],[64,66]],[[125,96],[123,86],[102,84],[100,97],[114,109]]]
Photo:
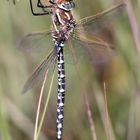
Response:
[[[59,46],[60,45],[60,46]],[[63,43],[60,43],[57,48],[58,58],[58,101],[57,101],[57,140],[61,140],[64,120],[64,101],[65,101],[65,67],[63,55]],[[63,46],[63,47],[62,47]]]

